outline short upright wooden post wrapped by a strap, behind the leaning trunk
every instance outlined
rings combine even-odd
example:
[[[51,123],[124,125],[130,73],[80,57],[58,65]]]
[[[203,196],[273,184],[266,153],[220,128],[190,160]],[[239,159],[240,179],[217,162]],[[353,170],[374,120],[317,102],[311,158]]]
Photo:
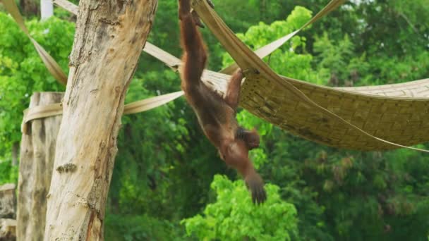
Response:
[[[36,92],[30,108],[61,102],[64,93]],[[20,146],[18,177],[18,240],[43,240],[49,186],[54,166],[56,135],[61,116],[37,119],[28,123]]]

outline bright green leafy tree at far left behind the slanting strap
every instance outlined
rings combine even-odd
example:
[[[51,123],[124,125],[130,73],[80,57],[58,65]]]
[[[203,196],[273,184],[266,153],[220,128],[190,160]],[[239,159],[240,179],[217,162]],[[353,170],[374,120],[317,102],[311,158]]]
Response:
[[[58,18],[26,23],[36,39],[67,70],[74,25]],[[23,110],[33,92],[62,91],[13,18],[0,13],[0,157],[20,140]],[[10,161],[10,160],[8,160]]]

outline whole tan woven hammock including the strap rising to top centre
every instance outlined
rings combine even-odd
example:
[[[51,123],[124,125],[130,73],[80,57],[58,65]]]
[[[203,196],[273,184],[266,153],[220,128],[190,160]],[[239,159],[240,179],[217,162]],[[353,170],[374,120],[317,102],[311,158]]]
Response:
[[[255,116],[331,147],[369,151],[429,140],[429,80],[331,88],[280,76],[205,0],[194,0],[193,9],[243,70],[240,103]]]

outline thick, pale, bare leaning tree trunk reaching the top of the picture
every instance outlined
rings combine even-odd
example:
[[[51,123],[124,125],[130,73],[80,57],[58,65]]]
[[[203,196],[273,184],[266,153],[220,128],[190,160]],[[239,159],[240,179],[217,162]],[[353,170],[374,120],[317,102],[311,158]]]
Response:
[[[123,99],[157,0],[82,0],[44,240],[103,240]]]

